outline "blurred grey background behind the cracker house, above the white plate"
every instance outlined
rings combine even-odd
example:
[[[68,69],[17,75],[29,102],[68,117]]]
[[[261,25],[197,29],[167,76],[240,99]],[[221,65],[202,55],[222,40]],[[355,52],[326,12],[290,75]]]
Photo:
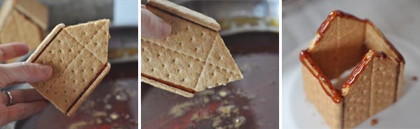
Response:
[[[282,7],[283,58],[307,47],[327,15],[337,9],[368,18],[385,36],[398,36],[420,47],[420,1],[283,0]]]

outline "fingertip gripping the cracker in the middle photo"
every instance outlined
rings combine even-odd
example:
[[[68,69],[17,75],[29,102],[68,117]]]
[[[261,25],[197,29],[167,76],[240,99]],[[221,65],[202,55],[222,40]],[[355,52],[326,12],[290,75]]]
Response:
[[[172,28],[170,24],[154,15],[142,5],[142,36],[149,38],[165,38]]]

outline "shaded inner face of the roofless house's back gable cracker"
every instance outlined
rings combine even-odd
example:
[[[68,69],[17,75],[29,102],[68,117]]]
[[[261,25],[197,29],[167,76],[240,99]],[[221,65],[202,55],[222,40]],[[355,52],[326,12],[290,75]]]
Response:
[[[337,17],[328,24],[316,45],[311,45],[311,58],[328,78],[341,75],[355,66],[366,54],[364,47],[365,23],[356,18]],[[329,56],[325,56],[329,55]]]

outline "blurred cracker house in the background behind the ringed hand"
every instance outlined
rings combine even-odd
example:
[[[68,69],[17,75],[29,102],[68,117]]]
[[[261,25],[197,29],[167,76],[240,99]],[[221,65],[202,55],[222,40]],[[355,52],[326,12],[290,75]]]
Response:
[[[47,15],[46,7],[35,0],[5,0],[0,13],[0,44],[21,42],[29,51],[35,50],[47,29]]]

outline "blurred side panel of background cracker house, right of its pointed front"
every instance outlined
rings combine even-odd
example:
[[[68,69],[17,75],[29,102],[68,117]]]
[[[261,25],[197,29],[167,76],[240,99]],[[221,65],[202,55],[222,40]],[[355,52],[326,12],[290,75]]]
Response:
[[[7,1],[7,0],[6,0]],[[15,0],[16,9],[25,14],[30,20],[41,27],[43,31],[48,29],[48,10],[36,0]]]

